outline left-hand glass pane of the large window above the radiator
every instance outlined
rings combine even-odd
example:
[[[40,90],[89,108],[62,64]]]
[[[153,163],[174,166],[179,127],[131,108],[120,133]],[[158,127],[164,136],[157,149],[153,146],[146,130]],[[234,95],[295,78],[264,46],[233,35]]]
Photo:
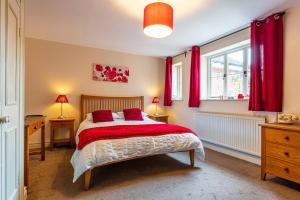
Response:
[[[210,96],[221,97],[224,93],[224,56],[210,60]]]

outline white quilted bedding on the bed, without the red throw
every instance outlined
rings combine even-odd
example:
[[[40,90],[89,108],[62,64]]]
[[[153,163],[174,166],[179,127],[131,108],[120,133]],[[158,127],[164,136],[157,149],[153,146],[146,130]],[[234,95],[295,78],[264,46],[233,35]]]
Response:
[[[83,121],[76,134],[76,144],[81,131],[103,126],[159,124],[144,117],[144,121],[125,121],[115,119],[113,122],[93,123]],[[82,150],[74,152],[71,163],[74,168],[73,182],[85,171],[111,162],[130,159],[139,156],[165,154],[176,151],[196,149],[197,156],[204,159],[204,149],[198,137],[192,133],[168,134],[161,136],[132,137],[124,139],[99,140],[86,145]]]

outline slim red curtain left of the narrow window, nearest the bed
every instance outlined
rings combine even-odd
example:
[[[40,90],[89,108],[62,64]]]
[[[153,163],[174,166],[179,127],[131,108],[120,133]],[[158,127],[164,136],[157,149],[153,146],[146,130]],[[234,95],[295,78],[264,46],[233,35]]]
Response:
[[[172,105],[172,57],[166,59],[164,106]]]

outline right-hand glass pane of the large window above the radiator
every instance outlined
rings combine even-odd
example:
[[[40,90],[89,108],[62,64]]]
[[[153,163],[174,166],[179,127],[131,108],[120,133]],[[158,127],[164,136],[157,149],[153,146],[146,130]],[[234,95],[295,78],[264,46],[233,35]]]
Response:
[[[244,51],[236,51],[227,56],[227,96],[237,98],[243,94]]]

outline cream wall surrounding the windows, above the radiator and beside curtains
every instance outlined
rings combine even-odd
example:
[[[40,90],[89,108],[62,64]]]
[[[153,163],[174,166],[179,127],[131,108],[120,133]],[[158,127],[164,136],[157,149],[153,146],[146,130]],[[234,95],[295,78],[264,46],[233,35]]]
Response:
[[[297,89],[300,81],[300,7],[290,9],[285,15],[285,35],[284,35],[284,104],[283,111],[295,113],[300,116],[300,91]],[[201,54],[209,53],[228,45],[247,40],[250,37],[250,30],[246,29],[240,33],[224,38],[207,46],[201,47]],[[200,108],[188,108],[189,96],[189,76],[190,76],[191,53],[187,56],[177,56],[173,63],[183,62],[183,100],[174,101],[169,107],[168,113],[171,121],[194,128],[197,123],[195,114],[200,111],[205,112],[225,112],[237,114],[266,115],[270,121],[274,120],[273,113],[250,112],[248,111],[248,101],[211,101],[202,100]]]

